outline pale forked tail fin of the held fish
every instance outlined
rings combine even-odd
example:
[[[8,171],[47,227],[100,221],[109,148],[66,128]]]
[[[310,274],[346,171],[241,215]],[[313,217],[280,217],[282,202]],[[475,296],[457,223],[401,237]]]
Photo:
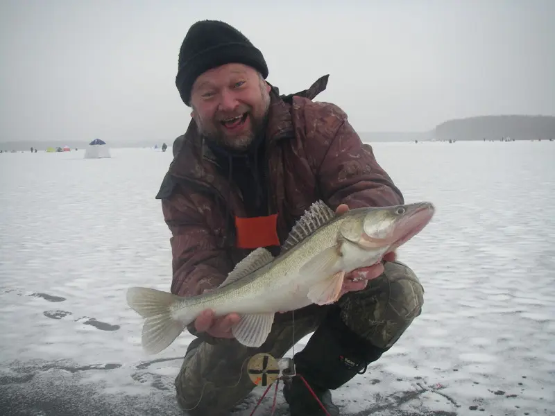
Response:
[[[175,320],[170,306],[177,296],[150,288],[129,288],[127,303],[135,312],[146,318],[143,326],[142,345],[148,354],[157,354],[169,347],[191,321]]]

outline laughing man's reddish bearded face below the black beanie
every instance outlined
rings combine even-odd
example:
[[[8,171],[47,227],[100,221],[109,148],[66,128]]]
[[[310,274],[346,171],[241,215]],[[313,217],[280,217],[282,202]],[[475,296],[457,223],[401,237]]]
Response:
[[[270,85],[244,64],[225,64],[196,78],[191,107],[199,132],[232,150],[245,150],[264,128]]]

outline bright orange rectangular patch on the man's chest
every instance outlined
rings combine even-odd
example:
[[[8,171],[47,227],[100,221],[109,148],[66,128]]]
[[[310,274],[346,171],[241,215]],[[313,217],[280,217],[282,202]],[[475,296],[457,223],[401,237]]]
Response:
[[[280,245],[277,224],[278,214],[253,218],[235,217],[237,247],[259,248]]]

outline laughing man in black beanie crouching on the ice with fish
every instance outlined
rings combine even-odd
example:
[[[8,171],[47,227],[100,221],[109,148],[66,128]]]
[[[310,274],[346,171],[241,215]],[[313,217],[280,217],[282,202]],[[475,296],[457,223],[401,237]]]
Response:
[[[262,53],[232,26],[199,21],[189,28],[176,85],[192,120],[173,144],[157,195],[172,233],[172,293],[216,288],[257,247],[279,254],[318,199],[338,214],[403,202],[345,113],[311,101],[327,76],[289,96],[280,96],[267,76]],[[214,319],[205,311],[188,328],[198,338],[176,378],[180,406],[191,415],[228,415],[255,387],[246,373],[251,356],[282,357],[314,332],[294,359],[326,410],[298,376],[286,383],[284,397],[291,416],[339,415],[330,390],[364,372],[420,314],[422,286],[394,259],[390,253],[389,261],[350,273],[336,304],[276,314],[259,348],[233,339],[239,315]]]

